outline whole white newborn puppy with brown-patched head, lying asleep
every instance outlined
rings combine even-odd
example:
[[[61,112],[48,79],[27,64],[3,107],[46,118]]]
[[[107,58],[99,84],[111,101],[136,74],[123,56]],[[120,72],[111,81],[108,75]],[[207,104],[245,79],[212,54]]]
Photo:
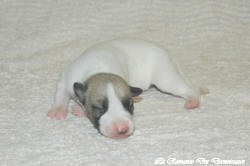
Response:
[[[48,116],[65,119],[69,100],[75,99],[75,115],[86,114],[104,136],[125,138],[134,131],[132,97],[151,85],[183,97],[187,109],[200,104],[200,92],[184,81],[160,46],[137,39],[103,42],[63,72]]]

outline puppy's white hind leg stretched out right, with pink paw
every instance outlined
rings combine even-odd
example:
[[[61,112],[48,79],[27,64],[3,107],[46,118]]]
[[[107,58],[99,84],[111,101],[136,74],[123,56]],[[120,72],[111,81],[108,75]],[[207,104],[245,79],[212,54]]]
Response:
[[[183,97],[186,109],[194,109],[200,105],[200,92],[185,82],[169,60],[157,66],[152,83],[163,92]]]

